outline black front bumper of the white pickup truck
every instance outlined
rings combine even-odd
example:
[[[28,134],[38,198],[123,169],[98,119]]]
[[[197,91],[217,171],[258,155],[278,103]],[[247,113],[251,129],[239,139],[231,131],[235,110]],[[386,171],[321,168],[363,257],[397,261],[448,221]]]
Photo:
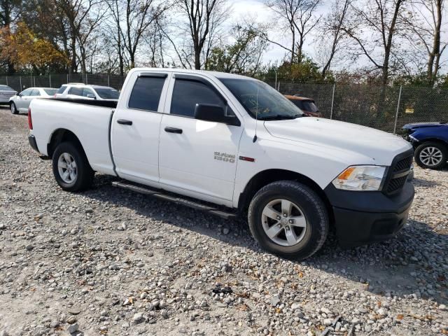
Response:
[[[414,200],[414,186],[406,182],[393,196],[381,192],[338,190],[331,183],[325,194],[333,208],[342,246],[358,246],[393,237],[402,229]]]

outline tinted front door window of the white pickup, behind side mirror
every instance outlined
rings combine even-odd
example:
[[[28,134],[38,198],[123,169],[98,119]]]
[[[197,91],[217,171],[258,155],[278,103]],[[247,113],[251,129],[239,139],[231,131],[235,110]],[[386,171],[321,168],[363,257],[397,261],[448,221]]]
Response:
[[[223,99],[211,87],[196,80],[176,79],[169,113],[193,118],[196,104],[215,104],[225,108]]]

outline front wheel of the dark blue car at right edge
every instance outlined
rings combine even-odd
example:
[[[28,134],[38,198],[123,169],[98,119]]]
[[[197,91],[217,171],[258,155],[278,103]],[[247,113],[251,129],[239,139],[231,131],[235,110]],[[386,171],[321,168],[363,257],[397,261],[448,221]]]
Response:
[[[417,165],[428,169],[441,169],[447,164],[447,146],[428,141],[418,146],[414,154]]]

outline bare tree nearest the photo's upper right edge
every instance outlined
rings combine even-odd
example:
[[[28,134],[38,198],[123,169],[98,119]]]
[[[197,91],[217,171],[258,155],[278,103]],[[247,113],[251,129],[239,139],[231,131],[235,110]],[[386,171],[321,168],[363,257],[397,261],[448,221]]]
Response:
[[[409,43],[417,49],[423,47],[426,53],[426,79],[431,85],[437,80],[441,57],[448,45],[447,39],[442,41],[442,24],[446,15],[444,4],[444,0],[413,0],[412,18],[404,18],[409,30]]]

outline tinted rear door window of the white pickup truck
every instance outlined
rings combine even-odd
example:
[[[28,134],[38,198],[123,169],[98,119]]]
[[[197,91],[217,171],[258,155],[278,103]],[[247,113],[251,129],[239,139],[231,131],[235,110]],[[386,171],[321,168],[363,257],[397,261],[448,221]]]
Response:
[[[165,78],[139,77],[132,87],[129,99],[130,109],[146,111],[157,111],[159,107],[160,94],[165,84]]]

